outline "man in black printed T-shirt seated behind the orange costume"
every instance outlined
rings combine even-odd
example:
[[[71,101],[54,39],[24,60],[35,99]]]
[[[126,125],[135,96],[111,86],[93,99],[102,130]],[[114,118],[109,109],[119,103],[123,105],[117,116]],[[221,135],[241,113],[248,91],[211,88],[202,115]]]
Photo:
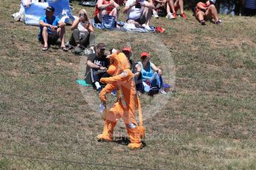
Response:
[[[109,77],[107,69],[109,66],[109,60],[105,55],[105,44],[99,43],[96,45],[96,53],[88,55],[87,67],[85,72],[85,81],[87,84],[93,84],[97,89],[97,92],[102,90],[100,78]]]

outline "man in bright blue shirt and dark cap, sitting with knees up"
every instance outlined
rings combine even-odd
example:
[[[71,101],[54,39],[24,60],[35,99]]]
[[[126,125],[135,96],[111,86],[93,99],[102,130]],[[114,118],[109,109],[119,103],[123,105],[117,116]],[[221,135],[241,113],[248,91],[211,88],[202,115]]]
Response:
[[[65,23],[60,21],[59,18],[53,16],[54,7],[49,6],[45,8],[45,16],[39,18],[40,33],[39,41],[44,44],[43,51],[48,50],[49,44],[55,44],[58,38],[61,40],[61,48],[63,51],[68,51],[65,47]]]

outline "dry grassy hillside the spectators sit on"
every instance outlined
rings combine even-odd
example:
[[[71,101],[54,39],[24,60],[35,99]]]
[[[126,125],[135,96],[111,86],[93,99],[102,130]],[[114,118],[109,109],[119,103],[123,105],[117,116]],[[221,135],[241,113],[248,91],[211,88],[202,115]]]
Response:
[[[103,122],[88,102],[93,90],[75,82],[86,58],[57,46],[42,52],[38,28],[11,18],[19,3],[0,9],[0,169],[256,169],[255,17],[201,26],[187,11],[187,21],[152,18],[163,34],[95,30],[96,42],[106,34],[108,47],[131,45],[134,58],[150,50],[165,81],[175,81],[171,96],[142,96],[163,105],[145,120],[145,147],[131,152],[126,141],[95,139]],[[125,135],[119,124],[115,135]]]

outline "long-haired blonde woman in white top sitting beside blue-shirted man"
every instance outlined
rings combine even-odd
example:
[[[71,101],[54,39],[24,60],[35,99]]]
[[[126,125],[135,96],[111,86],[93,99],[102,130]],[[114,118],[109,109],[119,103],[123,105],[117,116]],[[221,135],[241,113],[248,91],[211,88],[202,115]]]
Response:
[[[75,21],[73,21],[71,26],[73,33],[70,37],[69,44],[76,47],[75,52],[80,52],[84,47],[90,47],[94,51],[95,35],[88,13],[82,9],[79,10],[78,15],[78,17],[75,16]]]

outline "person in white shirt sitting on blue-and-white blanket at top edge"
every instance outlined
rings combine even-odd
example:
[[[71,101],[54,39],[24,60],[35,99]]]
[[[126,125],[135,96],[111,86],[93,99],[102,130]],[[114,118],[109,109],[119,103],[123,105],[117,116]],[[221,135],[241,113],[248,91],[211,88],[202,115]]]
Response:
[[[125,3],[124,13],[127,14],[127,23],[135,27],[144,27],[151,30],[149,22],[154,5],[145,0],[128,0]]]

